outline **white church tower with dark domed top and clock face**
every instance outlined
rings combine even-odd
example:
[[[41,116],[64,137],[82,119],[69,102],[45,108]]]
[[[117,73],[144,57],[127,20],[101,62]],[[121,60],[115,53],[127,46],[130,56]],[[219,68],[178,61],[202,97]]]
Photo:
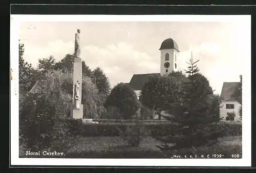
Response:
[[[180,52],[177,43],[172,38],[165,39],[159,50],[161,51],[161,75],[177,71],[179,65],[177,59]]]

